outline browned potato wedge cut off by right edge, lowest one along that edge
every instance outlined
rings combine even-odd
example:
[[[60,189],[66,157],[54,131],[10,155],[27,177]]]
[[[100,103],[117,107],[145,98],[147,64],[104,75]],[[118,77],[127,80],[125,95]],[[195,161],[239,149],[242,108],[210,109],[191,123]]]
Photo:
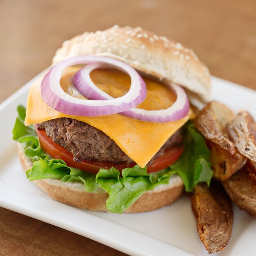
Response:
[[[228,180],[223,181],[222,185],[240,209],[256,217],[256,171],[254,171],[247,164]]]

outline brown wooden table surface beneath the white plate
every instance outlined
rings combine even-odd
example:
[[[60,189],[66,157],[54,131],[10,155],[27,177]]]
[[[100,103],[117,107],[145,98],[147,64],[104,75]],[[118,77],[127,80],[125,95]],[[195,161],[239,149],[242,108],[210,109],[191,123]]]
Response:
[[[0,102],[51,64],[64,40],[115,24],[141,26],[194,49],[211,74],[256,89],[254,0],[0,1]],[[0,208],[1,255],[124,255]]]

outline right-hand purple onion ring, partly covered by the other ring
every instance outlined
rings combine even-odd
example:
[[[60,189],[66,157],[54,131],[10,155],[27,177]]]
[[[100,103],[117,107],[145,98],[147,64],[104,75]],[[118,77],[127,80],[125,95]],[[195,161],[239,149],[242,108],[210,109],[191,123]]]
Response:
[[[94,100],[111,100],[114,99],[106,92],[100,90],[91,80],[90,72],[97,68],[102,68],[103,65],[88,64],[81,70],[76,72],[73,76],[73,83],[76,89],[88,99]],[[168,84],[176,93],[177,99],[175,103],[169,108],[161,110],[144,110],[139,108],[132,108],[130,110],[120,111],[119,114],[148,122],[173,122],[182,119],[189,112],[189,99],[186,92],[180,85],[169,83]]]

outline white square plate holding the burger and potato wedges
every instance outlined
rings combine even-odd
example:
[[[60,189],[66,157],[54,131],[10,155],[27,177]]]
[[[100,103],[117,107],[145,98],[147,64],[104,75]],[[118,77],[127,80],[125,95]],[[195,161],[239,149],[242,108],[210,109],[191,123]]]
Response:
[[[43,72],[41,73],[43,74]],[[93,212],[61,204],[28,182],[11,139],[18,104],[26,105],[27,93],[39,74],[0,105],[0,206],[62,227],[130,255],[198,255],[207,251],[200,241],[189,198],[149,213]],[[249,110],[256,118],[256,91],[212,79],[213,99],[234,111]],[[256,255],[256,219],[234,206],[233,234],[216,255]]]

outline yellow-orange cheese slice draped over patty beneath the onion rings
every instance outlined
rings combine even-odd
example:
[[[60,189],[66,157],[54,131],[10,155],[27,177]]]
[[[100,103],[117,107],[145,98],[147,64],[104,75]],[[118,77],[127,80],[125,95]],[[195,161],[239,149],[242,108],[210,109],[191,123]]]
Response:
[[[72,74],[76,70],[77,67],[72,67],[63,72],[61,86],[65,92],[72,96],[84,98],[73,88],[70,81]],[[114,70],[95,70],[91,73],[91,78],[101,90],[106,91],[112,97],[120,97],[129,90],[129,78],[121,72]],[[38,124],[60,117],[83,121],[103,131],[116,142],[126,155],[141,167],[144,167],[150,161],[174,132],[182,127],[186,121],[194,117],[192,110],[189,110],[188,115],[183,119],[169,123],[144,122],[119,114],[101,117],[65,115],[52,109],[43,101],[40,89],[41,80],[36,81],[29,90],[25,119],[26,125]],[[161,109],[168,108],[168,106],[172,105],[175,97],[173,97],[171,90],[156,81],[150,79],[144,80],[147,84],[148,95],[146,100],[138,106],[139,108]],[[106,86],[106,84],[109,86]],[[124,86],[120,87],[120,84]]]

